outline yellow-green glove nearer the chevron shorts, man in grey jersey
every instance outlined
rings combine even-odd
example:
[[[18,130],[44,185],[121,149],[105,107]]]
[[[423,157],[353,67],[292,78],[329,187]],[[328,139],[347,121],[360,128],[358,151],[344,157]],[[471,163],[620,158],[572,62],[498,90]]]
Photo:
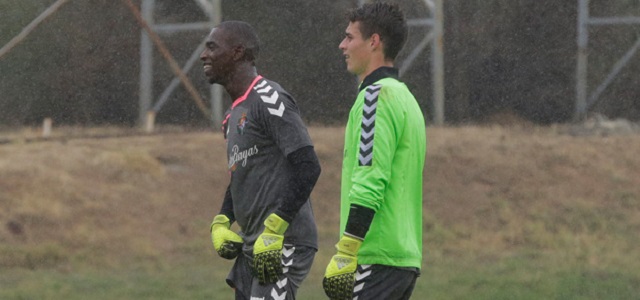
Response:
[[[282,246],[289,223],[270,214],[264,220],[264,226],[253,245],[253,270],[260,284],[274,283],[282,275]]]

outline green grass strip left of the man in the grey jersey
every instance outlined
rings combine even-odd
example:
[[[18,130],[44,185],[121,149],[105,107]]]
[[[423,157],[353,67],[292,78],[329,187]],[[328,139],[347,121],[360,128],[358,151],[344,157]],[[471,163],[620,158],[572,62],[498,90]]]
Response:
[[[230,299],[211,265],[166,270],[12,270],[0,275],[0,299]]]

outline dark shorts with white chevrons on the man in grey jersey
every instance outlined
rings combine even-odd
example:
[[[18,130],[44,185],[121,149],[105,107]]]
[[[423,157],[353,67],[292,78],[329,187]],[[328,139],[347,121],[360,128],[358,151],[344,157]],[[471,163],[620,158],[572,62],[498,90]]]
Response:
[[[282,249],[283,275],[276,283],[266,285],[260,285],[253,276],[252,258],[241,254],[227,276],[227,284],[236,289],[236,300],[294,300],[298,287],[311,270],[316,251],[310,247],[285,244]]]

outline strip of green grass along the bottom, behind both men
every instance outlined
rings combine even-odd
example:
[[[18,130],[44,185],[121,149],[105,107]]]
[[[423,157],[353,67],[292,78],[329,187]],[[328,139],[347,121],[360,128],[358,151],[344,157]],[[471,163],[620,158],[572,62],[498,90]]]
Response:
[[[554,254],[430,260],[413,299],[634,299],[638,268],[558,263]],[[0,299],[233,299],[224,283],[231,262],[164,265],[161,268],[82,270],[11,269],[0,275]],[[326,299],[316,259],[299,299]]]

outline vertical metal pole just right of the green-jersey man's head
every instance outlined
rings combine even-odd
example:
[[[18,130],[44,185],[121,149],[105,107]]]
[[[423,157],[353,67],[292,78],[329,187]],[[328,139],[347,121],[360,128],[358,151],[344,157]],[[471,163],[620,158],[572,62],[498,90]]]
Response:
[[[436,126],[444,124],[444,0],[436,0],[435,22],[433,31],[435,40],[433,43],[433,108],[434,123]]]

